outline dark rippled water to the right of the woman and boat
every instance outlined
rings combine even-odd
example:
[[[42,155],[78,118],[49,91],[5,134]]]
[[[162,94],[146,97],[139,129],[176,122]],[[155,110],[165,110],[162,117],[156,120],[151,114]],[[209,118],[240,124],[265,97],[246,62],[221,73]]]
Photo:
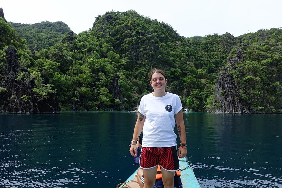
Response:
[[[187,114],[185,121],[201,187],[282,187],[281,114]]]

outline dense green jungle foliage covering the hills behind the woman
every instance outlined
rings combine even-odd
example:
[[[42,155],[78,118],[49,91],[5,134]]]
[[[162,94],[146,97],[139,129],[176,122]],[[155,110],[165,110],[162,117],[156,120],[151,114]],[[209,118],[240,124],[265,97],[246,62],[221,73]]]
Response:
[[[78,35],[68,32],[62,22],[40,23],[50,26],[46,34],[39,33],[43,32],[39,26],[13,23],[15,29],[1,18],[0,22],[1,80],[5,49],[13,45],[20,59],[19,77],[29,70],[39,93],[56,91],[62,110],[129,110],[152,92],[148,72],[159,68],[168,76],[166,90],[179,95],[183,107],[204,111],[213,105],[218,74],[230,66],[227,60],[240,48],[243,59],[230,69],[240,97],[251,108],[282,112],[281,29],[239,37],[225,33],[185,38],[170,25],[133,10],[99,15],[92,29]],[[124,101],[112,92],[116,74]]]

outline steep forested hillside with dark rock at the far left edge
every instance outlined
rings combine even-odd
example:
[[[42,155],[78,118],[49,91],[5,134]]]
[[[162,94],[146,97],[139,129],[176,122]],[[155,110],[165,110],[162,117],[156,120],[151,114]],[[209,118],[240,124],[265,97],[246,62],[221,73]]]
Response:
[[[34,114],[60,113],[51,84],[36,72],[32,53],[0,8],[0,112]]]

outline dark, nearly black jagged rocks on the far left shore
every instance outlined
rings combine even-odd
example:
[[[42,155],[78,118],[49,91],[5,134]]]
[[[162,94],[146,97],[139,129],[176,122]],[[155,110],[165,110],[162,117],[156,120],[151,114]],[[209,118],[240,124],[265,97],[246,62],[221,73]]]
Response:
[[[54,93],[39,100],[32,90],[33,79],[17,79],[19,74],[16,50],[10,46],[6,51],[7,68],[5,79],[0,82],[0,112],[17,114],[60,113],[59,101]]]

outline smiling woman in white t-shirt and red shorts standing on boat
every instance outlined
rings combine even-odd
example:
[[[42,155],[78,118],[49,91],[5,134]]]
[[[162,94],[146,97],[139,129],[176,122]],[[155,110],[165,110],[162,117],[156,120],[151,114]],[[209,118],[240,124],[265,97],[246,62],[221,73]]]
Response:
[[[129,150],[132,156],[136,156],[136,142],[143,131],[140,167],[144,172],[144,188],[154,187],[158,164],[164,187],[173,188],[174,172],[179,169],[178,157],[183,158],[187,154],[181,100],[178,95],[165,91],[166,83],[163,71],[151,70],[150,84],[154,92],[144,95],[140,101]],[[178,154],[173,131],[175,121],[181,141]]]

